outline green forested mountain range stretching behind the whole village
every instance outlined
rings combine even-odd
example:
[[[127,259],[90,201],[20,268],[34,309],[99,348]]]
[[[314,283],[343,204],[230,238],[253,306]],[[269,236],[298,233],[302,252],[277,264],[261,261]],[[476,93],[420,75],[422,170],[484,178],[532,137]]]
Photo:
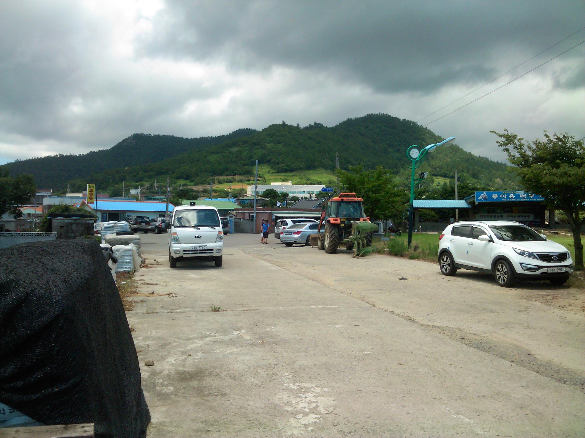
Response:
[[[163,142],[165,139],[168,139],[166,144],[173,144],[172,151],[167,147],[168,158],[160,154],[160,147],[156,147],[157,142]],[[123,154],[124,142],[129,140],[130,147],[127,153]],[[339,164],[342,169],[353,165],[363,165],[365,168],[381,165],[404,178],[409,164],[406,156],[407,147],[412,144],[426,146],[441,140],[442,138],[431,130],[414,121],[398,119],[388,114],[368,114],[347,119],[333,127],[314,123],[301,128],[298,124],[292,126],[283,122],[261,131],[240,130],[225,137],[193,140],[135,134],[112,148],[116,149],[118,156],[125,157],[125,161],[100,159],[99,166],[94,163],[93,166],[84,168],[74,166],[74,169],[71,169],[68,159],[72,157],[81,159],[91,154],[49,157],[54,160],[54,165],[61,163],[57,175],[49,178],[46,172],[39,174],[30,166],[26,171],[35,175],[39,186],[49,185],[51,188],[58,188],[70,182],[71,188],[75,187],[77,190],[84,187],[87,182],[95,183],[105,190],[106,187],[121,185],[122,181],[126,181],[128,186],[132,182],[151,181],[167,176],[170,176],[171,180],[205,184],[214,176],[252,175],[256,159],[260,164],[269,165],[276,172],[318,168],[333,170],[335,152],[339,152]],[[140,154],[144,148],[154,149],[152,155],[149,153],[148,158],[136,159],[136,154]],[[177,153],[178,150],[183,153]],[[105,154],[109,151],[92,154]],[[130,162],[132,159],[135,161]],[[11,166],[22,166],[30,161],[33,160],[13,163]],[[435,177],[453,178],[453,173],[457,169],[462,179],[493,187],[494,181],[499,180],[504,185],[510,181],[511,175],[507,168],[508,166],[504,164],[477,157],[457,145],[452,145],[430,154],[421,171],[431,171]],[[18,173],[20,169],[22,168],[19,168]]]

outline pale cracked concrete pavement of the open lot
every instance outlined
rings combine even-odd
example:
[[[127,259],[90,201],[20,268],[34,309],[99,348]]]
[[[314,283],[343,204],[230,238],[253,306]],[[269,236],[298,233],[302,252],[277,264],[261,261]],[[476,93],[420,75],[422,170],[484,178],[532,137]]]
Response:
[[[177,295],[127,312],[153,437],[585,435],[585,318],[540,299],[580,291],[241,234],[171,270],[141,237],[141,290]]]

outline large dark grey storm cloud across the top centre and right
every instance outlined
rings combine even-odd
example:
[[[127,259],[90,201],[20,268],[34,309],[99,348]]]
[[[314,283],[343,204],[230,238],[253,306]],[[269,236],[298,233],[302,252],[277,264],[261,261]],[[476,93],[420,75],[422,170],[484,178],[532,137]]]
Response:
[[[490,80],[582,27],[583,16],[583,1],[171,1],[142,48],[428,93]]]

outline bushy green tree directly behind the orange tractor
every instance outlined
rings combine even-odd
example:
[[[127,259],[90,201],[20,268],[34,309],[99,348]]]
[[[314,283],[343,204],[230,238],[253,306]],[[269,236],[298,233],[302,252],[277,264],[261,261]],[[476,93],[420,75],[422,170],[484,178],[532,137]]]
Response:
[[[373,171],[364,171],[362,166],[355,166],[338,174],[343,190],[363,198],[367,217],[387,220],[402,216],[405,192],[397,188],[394,176],[387,169],[378,166]]]

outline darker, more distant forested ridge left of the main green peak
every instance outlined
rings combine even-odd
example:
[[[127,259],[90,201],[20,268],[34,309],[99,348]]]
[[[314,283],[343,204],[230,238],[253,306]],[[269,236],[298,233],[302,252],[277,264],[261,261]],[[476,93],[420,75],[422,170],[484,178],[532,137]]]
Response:
[[[92,173],[107,169],[152,164],[184,154],[202,150],[233,138],[256,133],[253,129],[240,129],[218,137],[182,138],[174,135],[133,134],[113,147],[81,155],[49,155],[8,163],[10,175],[33,175],[37,187],[61,189],[74,179],[85,179]],[[84,185],[85,186],[85,185]]]

